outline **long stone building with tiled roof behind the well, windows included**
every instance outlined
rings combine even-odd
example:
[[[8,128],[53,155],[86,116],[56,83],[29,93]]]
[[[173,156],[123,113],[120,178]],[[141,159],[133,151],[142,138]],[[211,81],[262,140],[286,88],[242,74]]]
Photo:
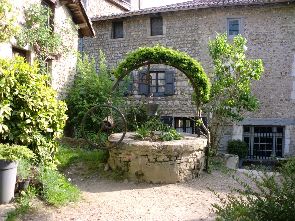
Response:
[[[228,39],[242,34],[248,39],[248,59],[262,59],[264,72],[252,82],[253,94],[261,108],[247,113],[244,121],[234,123],[224,134],[220,150],[227,141],[243,139],[250,146],[249,158],[268,158],[295,153],[295,6],[285,0],[219,1],[198,0],[168,6],[139,9],[91,17],[96,39],[84,38],[81,49],[98,58],[98,48],[106,54],[109,66],[116,67],[138,47],[164,47],[186,52],[201,62],[208,73],[212,67],[207,45],[215,32],[227,31]],[[235,27],[235,30],[231,29]],[[137,87],[141,71],[132,72],[132,100],[147,100],[150,88]],[[195,133],[196,110],[186,77],[171,67],[152,65],[157,77],[156,102],[161,116],[179,131]],[[167,75],[167,73],[171,75]],[[168,79],[169,78],[169,79]],[[173,91],[165,91],[172,80]],[[164,83],[165,82],[165,83]]]

